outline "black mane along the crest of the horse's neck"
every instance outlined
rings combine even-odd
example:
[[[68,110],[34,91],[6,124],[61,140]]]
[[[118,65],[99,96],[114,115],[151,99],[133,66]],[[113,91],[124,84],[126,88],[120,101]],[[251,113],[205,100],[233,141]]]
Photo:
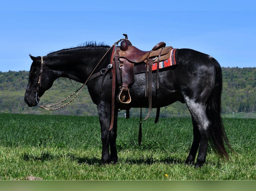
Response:
[[[103,43],[96,43],[96,41],[88,41],[85,43],[81,43],[79,44],[77,47],[71,47],[71,48],[67,48],[67,49],[62,49],[62,50],[58,50],[58,51],[53,51],[47,54],[47,56],[51,56],[54,54],[58,54],[58,53],[63,53],[63,52],[67,52],[67,51],[71,51],[71,50],[79,50],[81,48],[109,48],[109,45],[106,45],[104,42]]]

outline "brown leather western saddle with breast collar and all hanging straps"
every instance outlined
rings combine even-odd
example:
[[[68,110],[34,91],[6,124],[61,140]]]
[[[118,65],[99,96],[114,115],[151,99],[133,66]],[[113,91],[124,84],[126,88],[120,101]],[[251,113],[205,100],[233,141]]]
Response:
[[[116,50],[112,53],[111,63],[107,68],[102,69],[90,76],[88,82],[92,79],[103,76],[100,92],[102,91],[102,86],[106,73],[112,69],[110,76],[112,77],[112,96],[111,96],[111,121],[110,128],[113,128],[114,124],[114,110],[115,110],[115,99],[117,102],[126,105],[126,118],[129,118],[129,103],[131,102],[130,90],[134,82],[134,75],[138,73],[145,73],[145,97],[148,98],[148,114],[144,118],[146,120],[152,109],[152,65],[157,64],[156,67],[156,90],[159,87],[158,73],[159,73],[159,62],[168,60],[171,55],[171,46],[165,47],[164,42],[160,42],[155,45],[150,51],[142,51],[135,46],[132,46],[131,42],[128,40],[126,34],[123,34],[125,39],[120,39],[114,45],[121,42],[121,46],[116,46]],[[113,45],[113,46],[114,46]],[[113,60],[112,60],[113,59]],[[113,64],[112,64],[113,63]],[[116,81],[119,87],[119,93],[115,97]],[[158,122],[160,113],[160,107],[156,110],[155,123]],[[139,128],[139,145],[141,142],[141,116],[140,116],[140,128]]]

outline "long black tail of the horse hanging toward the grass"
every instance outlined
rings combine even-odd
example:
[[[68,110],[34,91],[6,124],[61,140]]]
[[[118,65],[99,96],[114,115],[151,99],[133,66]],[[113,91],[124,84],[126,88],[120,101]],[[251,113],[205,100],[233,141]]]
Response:
[[[206,113],[211,123],[210,144],[215,153],[218,153],[222,158],[225,156],[228,159],[224,144],[226,143],[230,149],[231,146],[221,118],[222,71],[217,60],[213,58],[212,62],[216,69],[215,86],[206,105]]]

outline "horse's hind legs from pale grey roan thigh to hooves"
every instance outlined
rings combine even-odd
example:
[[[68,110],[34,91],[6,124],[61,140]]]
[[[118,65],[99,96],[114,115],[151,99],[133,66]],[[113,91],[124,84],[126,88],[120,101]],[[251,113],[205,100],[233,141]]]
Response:
[[[196,167],[201,167],[206,161],[206,152],[208,146],[208,140],[210,136],[210,122],[205,112],[204,103],[196,103],[192,100],[186,102],[190,111],[193,128],[194,128],[194,140],[191,146],[189,155],[186,159],[186,163],[192,163],[195,160],[197,149],[199,146]]]

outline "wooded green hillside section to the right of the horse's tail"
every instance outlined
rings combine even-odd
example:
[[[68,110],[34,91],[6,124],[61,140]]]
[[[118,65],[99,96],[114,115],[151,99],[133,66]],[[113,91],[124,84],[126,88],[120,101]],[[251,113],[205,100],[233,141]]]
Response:
[[[256,111],[256,68],[222,68],[224,112]]]

